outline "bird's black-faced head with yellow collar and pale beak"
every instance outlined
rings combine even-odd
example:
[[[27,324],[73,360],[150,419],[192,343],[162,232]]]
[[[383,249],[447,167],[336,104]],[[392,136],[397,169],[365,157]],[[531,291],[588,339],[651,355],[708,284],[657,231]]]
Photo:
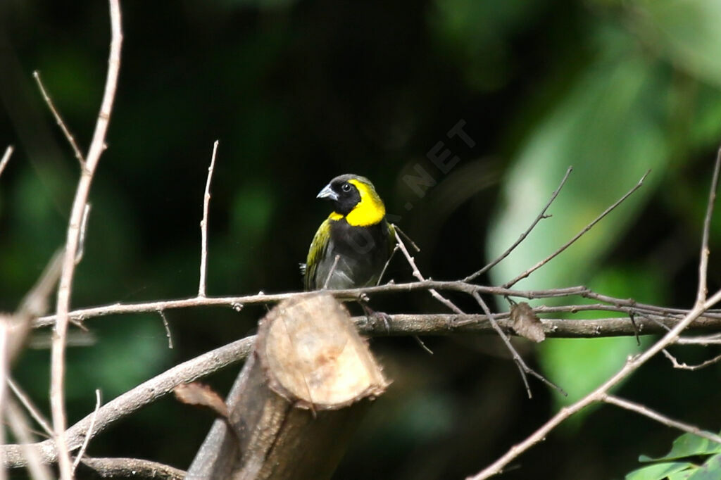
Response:
[[[331,220],[346,219],[352,226],[368,226],[379,223],[386,215],[383,200],[366,177],[345,174],[335,177],[323,187],[318,198],[333,203]]]

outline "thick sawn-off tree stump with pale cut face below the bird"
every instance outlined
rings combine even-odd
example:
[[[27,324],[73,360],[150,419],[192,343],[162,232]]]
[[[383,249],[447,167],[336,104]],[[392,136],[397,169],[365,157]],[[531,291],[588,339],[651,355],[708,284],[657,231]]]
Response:
[[[216,420],[186,479],[329,479],[387,385],[335,298],[284,301],[260,321],[228,422]]]

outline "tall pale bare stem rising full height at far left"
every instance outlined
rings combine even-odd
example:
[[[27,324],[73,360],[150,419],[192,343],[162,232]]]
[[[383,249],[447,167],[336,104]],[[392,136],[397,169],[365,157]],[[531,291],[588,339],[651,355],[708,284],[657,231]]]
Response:
[[[85,205],[87,204],[90,185],[97,167],[100,155],[105,150],[105,134],[110,123],[112,103],[115,99],[115,90],[118,86],[118,73],[120,71],[120,47],[123,43],[123,32],[120,24],[119,0],[110,0],[110,55],[105,80],[105,93],[102,97],[99,115],[95,123],[95,131],[90,142],[87,159],[82,168],[78,186],[73,200],[73,207],[68,221],[68,234],[65,243],[65,256],[63,258],[63,272],[58,288],[58,301],[56,312],[58,320],[53,334],[53,346],[50,352],[50,409],[53,414],[53,430],[58,446],[58,464],[62,480],[72,479],[72,464],[66,441],[65,416],[65,348],[68,333],[68,311],[70,296],[75,273],[75,258],[80,239]]]

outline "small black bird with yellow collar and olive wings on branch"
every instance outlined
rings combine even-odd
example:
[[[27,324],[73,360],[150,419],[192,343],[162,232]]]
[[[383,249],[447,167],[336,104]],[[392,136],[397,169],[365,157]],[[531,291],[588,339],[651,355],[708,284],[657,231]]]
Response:
[[[313,237],[304,272],[306,290],[375,285],[396,244],[386,207],[366,177],[335,177],[318,194],[333,212]],[[336,259],[337,258],[337,259]]]

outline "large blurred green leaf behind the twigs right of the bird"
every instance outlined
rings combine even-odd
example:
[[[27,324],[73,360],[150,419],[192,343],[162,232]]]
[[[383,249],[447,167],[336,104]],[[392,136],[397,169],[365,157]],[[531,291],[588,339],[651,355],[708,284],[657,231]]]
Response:
[[[599,60],[579,79],[572,92],[531,134],[513,162],[503,185],[505,203],[491,223],[489,258],[500,254],[531,223],[567,166],[573,165],[574,172],[549,210],[553,217],[539,223],[528,239],[492,271],[494,283],[505,283],[554,252],[653,168],[640,190],[561,256],[517,285],[535,289],[588,282],[598,268],[598,260],[632,225],[658,185],[668,151],[663,115],[648,105],[663,92],[667,82],[663,71],[653,63],[635,53],[624,54],[624,40],[610,37],[606,52],[609,60]],[[639,294],[638,285],[648,285],[623,282],[622,276],[616,280],[627,288],[624,296],[635,296]],[[629,353],[636,351],[633,338],[549,340],[539,346],[539,360],[551,380],[569,391],[568,399],[556,397],[565,403],[598,386],[623,365]]]

